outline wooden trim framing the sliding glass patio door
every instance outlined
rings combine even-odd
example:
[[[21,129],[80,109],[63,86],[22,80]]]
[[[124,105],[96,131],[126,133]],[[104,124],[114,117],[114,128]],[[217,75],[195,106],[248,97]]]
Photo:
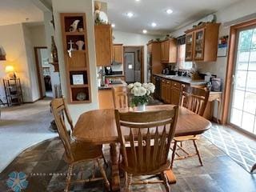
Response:
[[[225,90],[224,90],[224,96],[223,96],[223,106],[222,106],[222,124],[227,123],[227,119],[229,117],[229,106],[230,106],[230,94],[232,89],[232,75],[234,71],[234,59],[235,59],[235,50],[236,50],[236,39],[237,39],[237,32],[238,30],[242,30],[244,28],[247,28],[249,26],[256,25],[256,19],[248,21],[248,22],[242,22],[238,25],[231,26],[230,27],[230,46],[228,51],[228,60],[227,60],[227,66],[226,66],[226,82],[225,82]]]

